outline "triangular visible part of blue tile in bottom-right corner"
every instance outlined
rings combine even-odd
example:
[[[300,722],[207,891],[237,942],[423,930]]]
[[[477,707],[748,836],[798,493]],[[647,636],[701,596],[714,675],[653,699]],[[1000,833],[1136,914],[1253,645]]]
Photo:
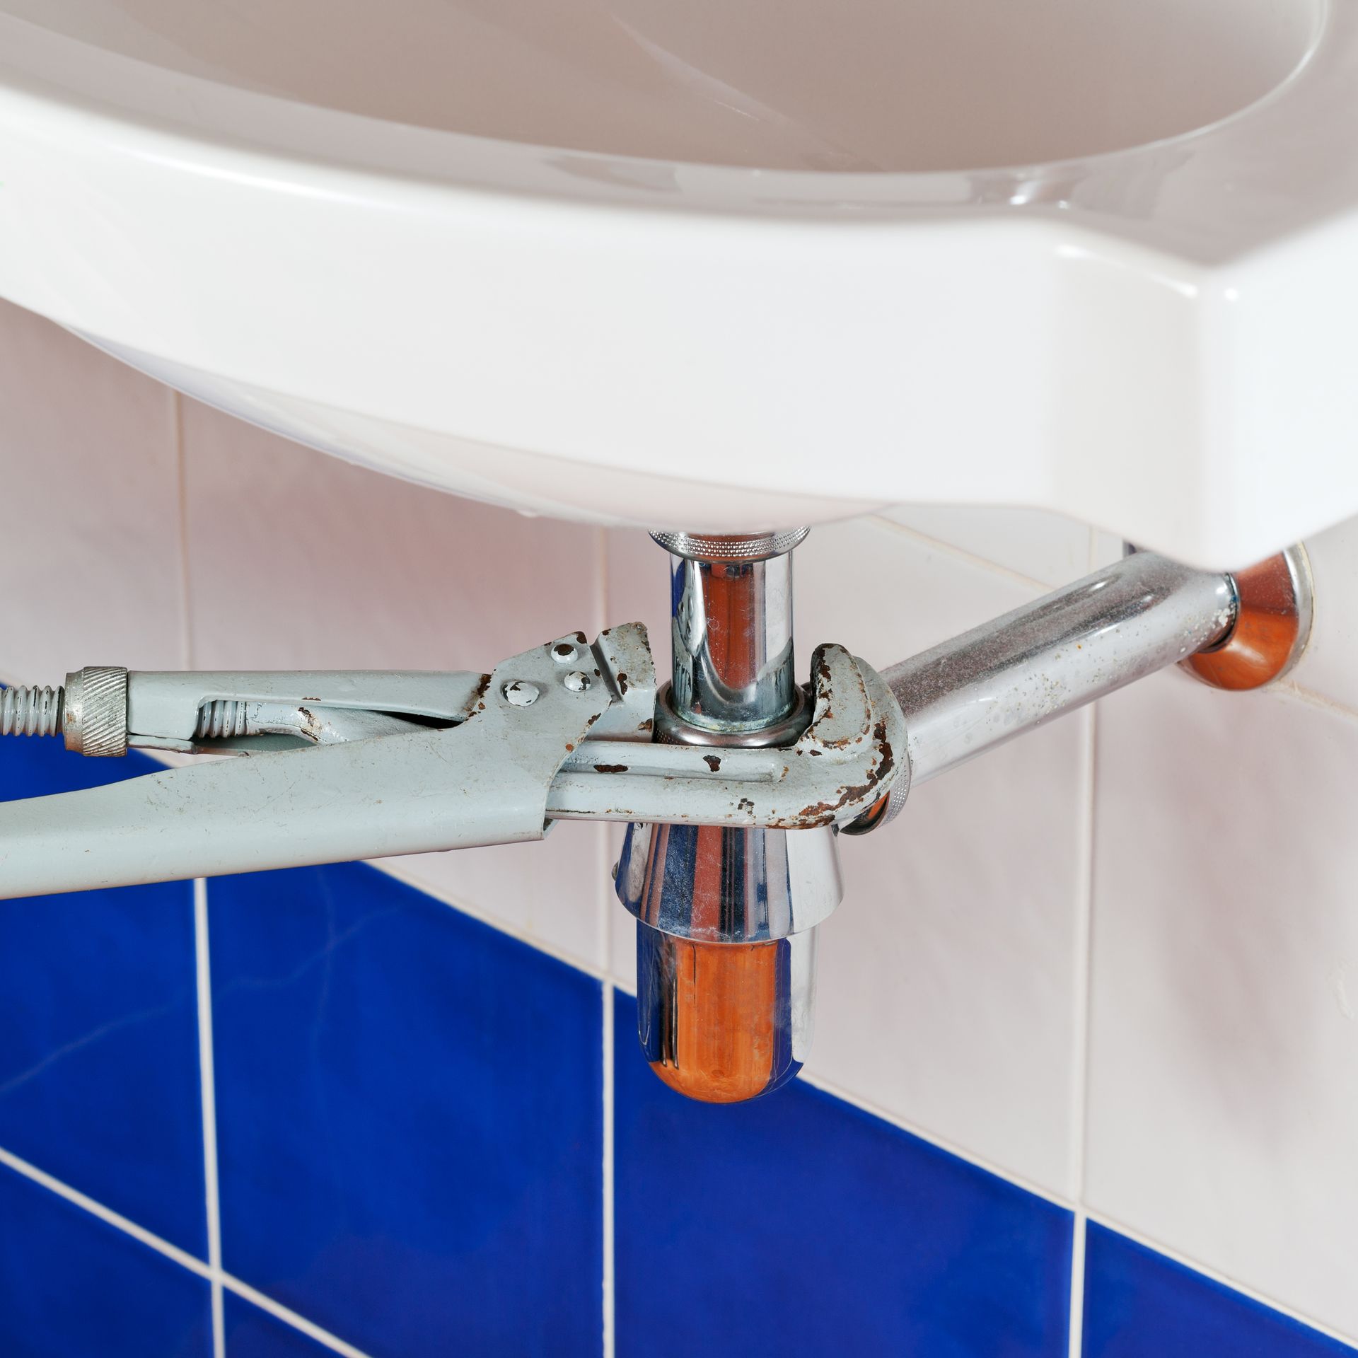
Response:
[[[1315,1329],[1089,1224],[1085,1358],[1338,1358]]]

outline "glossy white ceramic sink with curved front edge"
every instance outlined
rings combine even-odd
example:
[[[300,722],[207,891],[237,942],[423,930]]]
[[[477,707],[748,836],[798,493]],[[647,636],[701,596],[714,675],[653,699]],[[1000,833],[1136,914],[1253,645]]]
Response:
[[[1238,565],[1358,513],[1358,3],[0,0],[0,295],[530,511]]]

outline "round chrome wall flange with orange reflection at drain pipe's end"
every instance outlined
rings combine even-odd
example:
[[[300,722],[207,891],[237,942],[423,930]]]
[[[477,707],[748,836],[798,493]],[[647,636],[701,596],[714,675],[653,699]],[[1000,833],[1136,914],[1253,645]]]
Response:
[[[1281,679],[1301,659],[1310,640],[1313,588],[1306,549],[1300,543],[1232,572],[1236,625],[1207,650],[1184,660],[1184,668],[1214,689],[1259,689]]]

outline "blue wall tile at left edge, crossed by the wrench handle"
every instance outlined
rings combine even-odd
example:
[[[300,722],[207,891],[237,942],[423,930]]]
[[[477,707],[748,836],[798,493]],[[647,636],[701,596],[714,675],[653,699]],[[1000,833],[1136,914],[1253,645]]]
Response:
[[[158,769],[0,740],[0,800]],[[0,1145],[205,1252],[193,888],[0,902]]]

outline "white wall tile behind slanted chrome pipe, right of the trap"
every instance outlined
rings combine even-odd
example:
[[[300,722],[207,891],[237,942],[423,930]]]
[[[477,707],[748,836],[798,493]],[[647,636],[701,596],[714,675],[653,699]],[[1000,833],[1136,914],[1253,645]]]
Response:
[[[799,549],[804,650],[885,667],[1039,592],[875,524]],[[841,841],[808,1066],[1054,1194],[1070,1128],[1082,909],[1081,722],[1067,718],[918,788]]]

